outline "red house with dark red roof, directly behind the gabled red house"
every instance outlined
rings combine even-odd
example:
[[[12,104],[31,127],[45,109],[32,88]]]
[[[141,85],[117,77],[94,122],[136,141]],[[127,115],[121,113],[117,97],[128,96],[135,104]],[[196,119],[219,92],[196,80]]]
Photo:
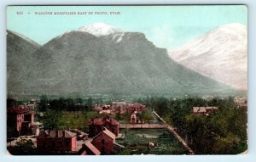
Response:
[[[89,137],[95,137],[102,130],[104,130],[104,127],[109,131],[112,131],[115,136],[119,135],[119,122],[110,118],[109,115],[104,118],[91,119],[88,125]]]

